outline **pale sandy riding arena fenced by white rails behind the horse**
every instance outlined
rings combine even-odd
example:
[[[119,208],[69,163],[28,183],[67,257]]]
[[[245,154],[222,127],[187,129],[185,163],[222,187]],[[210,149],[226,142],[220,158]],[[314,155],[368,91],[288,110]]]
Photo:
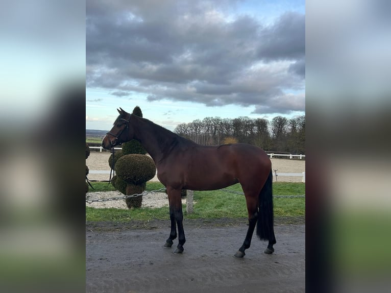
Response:
[[[86,165],[90,170],[110,170],[108,163],[109,152],[91,152],[86,159]],[[302,173],[305,172],[305,160],[290,160],[272,158],[272,168],[278,169],[277,173]],[[274,175],[274,172],[273,172]],[[89,174],[90,180],[109,180],[109,174]],[[301,182],[301,177],[280,176],[278,181],[284,182]],[[275,177],[273,176],[275,181]],[[159,181],[155,176],[151,181]]]

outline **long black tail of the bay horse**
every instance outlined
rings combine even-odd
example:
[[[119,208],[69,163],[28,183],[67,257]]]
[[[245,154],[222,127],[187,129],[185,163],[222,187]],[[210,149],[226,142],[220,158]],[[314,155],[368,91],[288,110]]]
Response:
[[[258,221],[257,221],[257,235],[261,240],[269,240],[275,243],[273,229],[273,173],[267,177],[265,185],[259,193],[258,200]]]

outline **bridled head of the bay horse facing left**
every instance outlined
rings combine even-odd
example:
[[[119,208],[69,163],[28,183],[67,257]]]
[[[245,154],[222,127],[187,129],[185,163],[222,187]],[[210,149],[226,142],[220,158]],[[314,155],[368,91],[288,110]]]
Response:
[[[130,125],[130,114],[123,109],[117,109],[119,116],[114,122],[113,128],[102,139],[102,147],[110,150],[115,145],[133,139],[133,129]]]

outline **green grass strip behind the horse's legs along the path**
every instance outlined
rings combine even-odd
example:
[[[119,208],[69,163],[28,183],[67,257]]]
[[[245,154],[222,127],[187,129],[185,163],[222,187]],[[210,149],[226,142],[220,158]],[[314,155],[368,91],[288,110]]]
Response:
[[[107,182],[92,182],[95,191],[113,190]],[[96,187],[95,187],[96,186]],[[156,190],[164,187],[160,182],[147,182],[146,190]],[[99,188],[99,189],[97,189]],[[242,191],[239,184],[230,186],[228,189]],[[305,194],[305,183],[273,183],[273,194],[279,196]],[[240,218],[247,217],[246,200],[243,195],[227,193],[221,190],[194,191],[194,212],[184,216],[187,218]],[[186,205],[183,206],[186,210]],[[305,215],[305,198],[275,198],[275,216],[303,216]],[[166,219],[168,207],[163,208],[140,208],[133,210],[123,209],[95,209],[86,207],[87,221],[118,221],[126,222],[148,219]]]

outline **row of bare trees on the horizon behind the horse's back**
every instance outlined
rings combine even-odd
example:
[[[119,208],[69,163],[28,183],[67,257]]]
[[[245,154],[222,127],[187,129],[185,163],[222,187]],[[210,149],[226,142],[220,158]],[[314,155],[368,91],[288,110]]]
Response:
[[[205,117],[179,124],[180,136],[202,145],[245,142],[265,151],[305,154],[305,116],[287,119]]]

